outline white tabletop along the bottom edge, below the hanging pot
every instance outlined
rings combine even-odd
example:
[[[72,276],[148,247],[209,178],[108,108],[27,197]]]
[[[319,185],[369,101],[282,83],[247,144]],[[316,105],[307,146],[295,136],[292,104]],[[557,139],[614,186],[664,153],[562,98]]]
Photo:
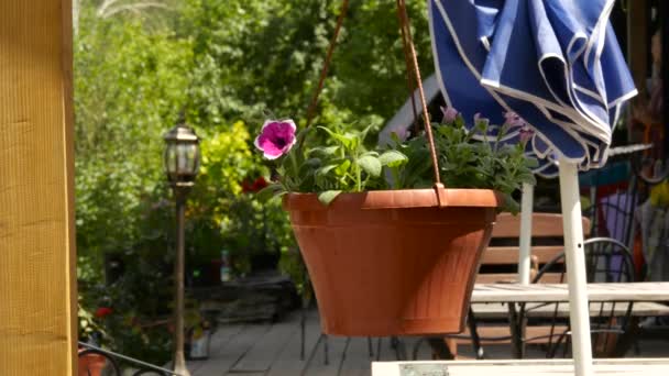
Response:
[[[594,360],[599,376],[669,375],[669,358]],[[573,375],[572,360],[384,362],[372,363],[372,376],[534,376]]]

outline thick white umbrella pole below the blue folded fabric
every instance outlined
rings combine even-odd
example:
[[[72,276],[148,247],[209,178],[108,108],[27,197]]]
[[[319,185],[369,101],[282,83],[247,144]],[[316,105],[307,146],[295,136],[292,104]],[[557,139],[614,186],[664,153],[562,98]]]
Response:
[[[588,279],[583,251],[583,223],[577,165],[560,162],[560,201],[564,226],[564,254],[569,285],[569,318],[571,343],[577,376],[591,376],[592,346],[590,343],[590,312],[588,309]]]

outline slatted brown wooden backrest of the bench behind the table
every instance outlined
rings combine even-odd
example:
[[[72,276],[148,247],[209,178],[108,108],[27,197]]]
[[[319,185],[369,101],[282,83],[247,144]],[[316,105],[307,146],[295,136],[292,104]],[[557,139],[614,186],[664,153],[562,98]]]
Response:
[[[563,250],[562,215],[556,213],[533,213],[531,258],[534,273]],[[583,232],[590,232],[590,220],[583,218]],[[518,273],[518,237],[520,215],[501,213],[497,215],[491,245],[481,256],[478,284],[516,281]],[[547,278],[550,278],[547,276]]]

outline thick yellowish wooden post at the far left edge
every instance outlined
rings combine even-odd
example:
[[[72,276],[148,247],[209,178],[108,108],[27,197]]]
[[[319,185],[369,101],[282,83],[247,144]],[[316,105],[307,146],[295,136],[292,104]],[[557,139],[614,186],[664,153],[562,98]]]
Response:
[[[70,0],[0,0],[0,375],[74,374]]]

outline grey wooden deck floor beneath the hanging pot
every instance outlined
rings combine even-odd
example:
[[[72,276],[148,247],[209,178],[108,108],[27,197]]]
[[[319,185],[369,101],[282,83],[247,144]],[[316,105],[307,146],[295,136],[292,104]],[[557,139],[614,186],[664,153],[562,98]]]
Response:
[[[188,369],[193,376],[357,376],[370,375],[373,361],[398,360],[388,339],[370,341],[366,338],[322,336],[316,311],[308,314],[305,358],[300,360],[299,318],[299,312],[294,312],[276,323],[221,324],[211,339],[209,360],[188,362]],[[412,357],[417,341],[419,339],[403,338],[406,352],[402,360]],[[669,356],[667,341],[639,345],[640,354],[630,353],[628,356]],[[495,347],[486,346],[490,357],[509,357],[508,346]],[[541,357],[538,353],[528,355]],[[423,343],[418,347],[417,360],[430,358],[429,346]]]

